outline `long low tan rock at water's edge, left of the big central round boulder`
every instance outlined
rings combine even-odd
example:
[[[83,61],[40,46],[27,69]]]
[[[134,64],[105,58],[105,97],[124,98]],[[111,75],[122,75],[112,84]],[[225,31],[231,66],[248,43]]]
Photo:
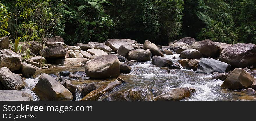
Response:
[[[57,59],[54,63],[60,66],[75,66],[78,63],[86,64],[88,60],[87,58],[64,58]]]

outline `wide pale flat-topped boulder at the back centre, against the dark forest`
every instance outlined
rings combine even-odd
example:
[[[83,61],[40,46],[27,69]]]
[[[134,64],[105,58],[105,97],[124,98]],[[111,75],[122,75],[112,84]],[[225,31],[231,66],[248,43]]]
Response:
[[[119,47],[127,44],[127,45],[137,45],[137,41],[131,39],[109,39],[104,42],[105,45],[109,46],[112,51],[118,51]]]

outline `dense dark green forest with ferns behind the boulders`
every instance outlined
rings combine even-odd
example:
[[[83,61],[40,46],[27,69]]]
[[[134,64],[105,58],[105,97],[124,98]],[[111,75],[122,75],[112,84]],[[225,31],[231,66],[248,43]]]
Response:
[[[255,0],[1,0],[0,37],[66,44],[182,37],[256,44]]]

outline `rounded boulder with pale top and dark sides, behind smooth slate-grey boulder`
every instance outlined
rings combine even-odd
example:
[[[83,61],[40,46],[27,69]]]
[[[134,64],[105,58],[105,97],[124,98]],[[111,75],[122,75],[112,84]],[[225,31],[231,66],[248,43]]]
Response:
[[[180,59],[185,59],[185,58],[200,59],[201,57],[203,57],[203,55],[196,49],[187,49],[187,50],[182,51],[180,53],[179,57],[180,57]]]

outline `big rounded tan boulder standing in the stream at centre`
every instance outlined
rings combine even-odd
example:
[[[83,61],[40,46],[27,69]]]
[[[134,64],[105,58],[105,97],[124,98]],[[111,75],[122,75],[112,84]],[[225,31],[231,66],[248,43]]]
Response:
[[[113,78],[120,75],[118,58],[113,55],[103,55],[85,64],[85,73],[91,78]]]

